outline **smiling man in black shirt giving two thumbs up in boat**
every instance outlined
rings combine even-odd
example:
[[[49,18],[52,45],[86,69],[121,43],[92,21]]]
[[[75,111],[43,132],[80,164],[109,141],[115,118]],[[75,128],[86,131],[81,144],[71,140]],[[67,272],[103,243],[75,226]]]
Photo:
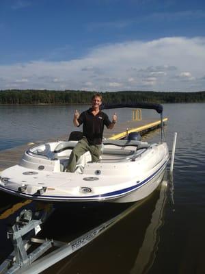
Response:
[[[74,172],[77,161],[87,151],[90,151],[92,162],[99,160],[104,125],[108,129],[113,129],[117,121],[116,114],[113,114],[112,122],[109,120],[107,114],[100,110],[101,104],[102,96],[97,93],[92,97],[92,107],[89,110],[82,112],[81,115],[77,110],[74,112],[73,124],[76,127],[83,124],[83,138],[72,149],[66,171]]]

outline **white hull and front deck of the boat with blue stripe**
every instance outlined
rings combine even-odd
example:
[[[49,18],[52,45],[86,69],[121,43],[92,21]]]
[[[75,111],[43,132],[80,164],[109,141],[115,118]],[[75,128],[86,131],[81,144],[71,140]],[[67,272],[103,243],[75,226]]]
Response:
[[[74,174],[55,171],[57,161],[42,158],[39,162],[48,170],[31,169],[38,159],[25,155],[20,165],[3,171],[0,190],[48,202],[132,203],[148,197],[159,186],[168,160],[167,144],[159,143],[137,158],[88,163],[84,173]]]

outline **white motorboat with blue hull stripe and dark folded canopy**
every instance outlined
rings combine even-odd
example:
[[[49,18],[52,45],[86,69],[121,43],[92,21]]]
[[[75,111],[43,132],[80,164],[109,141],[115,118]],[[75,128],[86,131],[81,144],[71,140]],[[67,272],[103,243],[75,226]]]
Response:
[[[0,189],[39,201],[127,203],[148,197],[163,179],[169,151],[163,141],[161,105],[135,103],[105,108],[153,108],[161,114],[161,141],[104,140],[102,156],[91,162],[90,152],[65,172],[76,140],[46,142],[25,151],[18,165],[1,173]]]

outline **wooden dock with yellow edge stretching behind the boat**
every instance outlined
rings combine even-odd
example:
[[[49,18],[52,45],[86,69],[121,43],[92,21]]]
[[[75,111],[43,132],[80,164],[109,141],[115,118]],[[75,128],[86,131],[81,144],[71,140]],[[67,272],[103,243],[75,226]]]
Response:
[[[164,118],[163,123],[166,123],[167,120],[167,118]],[[126,121],[124,123],[115,123],[115,127],[113,129],[107,129],[105,127],[103,137],[106,139],[118,140],[120,138],[126,137],[131,132],[139,132],[139,134],[143,135],[160,127],[160,125],[161,121],[154,119],[143,119],[141,121]],[[56,140],[68,140],[68,136],[61,136],[61,138],[49,138],[50,142]],[[10,166],[18,164],[25,150],[42,142],[44,142],[44,140],[29,142],[25,145],[20,145],[12,149],[5,149],[3,151],[0,151],[0,172],[4,169],[8,169]]]

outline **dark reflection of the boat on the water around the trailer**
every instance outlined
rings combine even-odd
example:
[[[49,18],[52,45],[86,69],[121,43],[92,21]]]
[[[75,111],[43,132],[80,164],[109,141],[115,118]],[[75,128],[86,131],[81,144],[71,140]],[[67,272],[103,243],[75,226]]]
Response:
[[[121,214],[118,223],[90,245],[58,262],[44,273],[147,273],[154,262],[159,244],[159,228],[163,225],[167,194],[166,183],[163,182],[150,197],[133,205],[54,203],[51,207],[51,204],[46,203],[20,201],[2,212],[0,221],[3,217],[7,221],[14,221],[26,203],[26,208],[33,211],[44,211],[46,206],[49,218],[38,236],[69,242]],[[5,254],[3,255],[5,258]]]

